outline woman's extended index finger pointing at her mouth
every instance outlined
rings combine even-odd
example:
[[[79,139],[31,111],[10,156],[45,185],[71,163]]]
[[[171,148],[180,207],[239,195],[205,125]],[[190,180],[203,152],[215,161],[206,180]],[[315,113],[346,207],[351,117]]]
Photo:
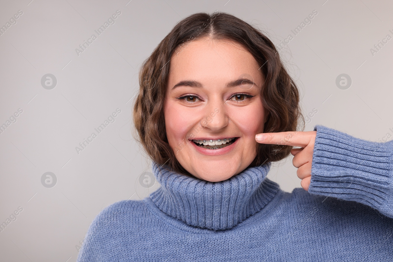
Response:
[[[261,133],[255,136],[255,140],[261,144],[288,145],[294,147],[306,147],[316,131],[286,131],[276,133]]]

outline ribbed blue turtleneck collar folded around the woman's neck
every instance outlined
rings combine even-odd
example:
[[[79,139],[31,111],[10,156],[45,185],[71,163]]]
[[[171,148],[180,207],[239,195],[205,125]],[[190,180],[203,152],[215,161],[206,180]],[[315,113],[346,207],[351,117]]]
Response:
[[[164,167],[152,163],[154,176],[161,184],[150,194],[152,202],[162,212],[195,227],[234,227],[263,209],[279,191],[279,185],[266,178],[270,163],[250,167],[219,182],[192,178]]]

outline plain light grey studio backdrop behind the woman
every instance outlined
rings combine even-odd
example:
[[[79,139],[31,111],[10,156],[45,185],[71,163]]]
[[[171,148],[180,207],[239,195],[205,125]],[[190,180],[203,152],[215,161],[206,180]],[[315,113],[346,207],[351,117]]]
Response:
[[[30,1],[0,2],[0,26],[23,11],[0,36],[0,125],[23,110],[0,134],[0,222],[23,208],[0,233],[1,261],[75,261],[103,208],[158,187],[139,184],[151,166],[131,135],[138,70],[192,13],[231,13],[278,45],[318,11],[280,51],[299,85],[303,113],[318,110],[305,131],[321,124],[371,141],[393,135],[393,39],[370,51],[387,34],[393,37],[392,1]],[[78,56],[79,44],[116,10],[115,24]],[[47,73],[57,79],[52,90],[41,85]],[[336,86],[342,73],[352,79],[349,89]],[[116,108],[115,122],[77,154],[75,147]],[[54,187],[42,185],[45,172],[55,174]],[[300,187],[292,156],[275,163],[268,178],[288,192]]]

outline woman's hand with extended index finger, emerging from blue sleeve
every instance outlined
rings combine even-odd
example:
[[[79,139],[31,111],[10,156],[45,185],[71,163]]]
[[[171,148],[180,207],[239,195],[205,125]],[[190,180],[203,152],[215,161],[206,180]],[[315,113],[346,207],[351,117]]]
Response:
[[[296,173],[301,179],[301,187],[308,191],[311,181],[311,163],[316,134],[316,131],[262,133],[257,134],[255,136],[255,140],[261,144],[301,147],[291,149],[291,154],[294,156],[292,163],[295,167],[298,168]]]

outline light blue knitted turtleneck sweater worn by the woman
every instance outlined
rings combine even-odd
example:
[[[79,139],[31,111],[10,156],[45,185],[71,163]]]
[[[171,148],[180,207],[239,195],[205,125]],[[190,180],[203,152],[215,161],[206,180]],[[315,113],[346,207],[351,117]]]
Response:
[[[77,261],[393,261],[393,141],[314,130],[309,191],[270,163],[220,182],[153,164],[161,187],[101,211]]]

